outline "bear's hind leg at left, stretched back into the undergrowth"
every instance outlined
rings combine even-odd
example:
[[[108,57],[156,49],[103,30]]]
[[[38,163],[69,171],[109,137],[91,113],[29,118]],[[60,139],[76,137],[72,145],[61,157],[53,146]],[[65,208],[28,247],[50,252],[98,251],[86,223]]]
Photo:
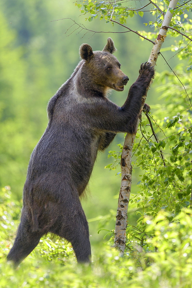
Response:
[[[7,255],[7,260],[13,261],[14,266],[17,267],[37,246],[42,236],[43,234],[40,231],[32,232],[31,223],[28,221],[25,213],[22,213],[17,236],[13,247]]]

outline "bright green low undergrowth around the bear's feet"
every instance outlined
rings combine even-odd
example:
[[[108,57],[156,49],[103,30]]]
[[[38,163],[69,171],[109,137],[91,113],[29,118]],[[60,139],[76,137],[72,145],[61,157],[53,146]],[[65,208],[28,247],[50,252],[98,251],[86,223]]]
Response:
[[[154,219],[144,215],[137,227],[129,226],[130,245],[123,258],[105,244],[94,252],[91,267],[77,265],[71,246],[58,240],[53,242],[49,235],[14,270],[11,263],[6,263],[5,256],[10,249],[10,230],[18,224],[21,204],[12,201],[10,187],[0,191],[0,200],[2,288],[124,288],[127,283],[131,288],[191,287],[192,212],[189,209],[182,209],[174,217],[161,210]]]

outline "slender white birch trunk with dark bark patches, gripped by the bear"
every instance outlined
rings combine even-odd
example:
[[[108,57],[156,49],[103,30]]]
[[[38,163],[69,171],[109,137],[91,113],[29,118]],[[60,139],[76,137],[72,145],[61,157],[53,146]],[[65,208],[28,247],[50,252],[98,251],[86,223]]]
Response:
[[[169,10],[174,9],[176,7],[177,2],[178,0],[170,0],[167,12],[164,16],[164,21],[159,31],[159,35],[153,45],[153,49],[151,51],[148,60],[148,62],[150,62],[153,67],[155,67],[158,55],[160,54],[161,46],[166,38],[166,33],[168,29],[166,26],[170,25],[172,19],[173,14]],[[143,105],[145,103],[146,97],[147,93],[142,97],[141,113],[143,110]],[[141,118],[141,113],[138,119],[138,126]],[[124,254],[125,242],[126,242],[127,209],[131,191],[131,176],[132,176],[131,156],[134,141],[135,141],[135,134],[127,133],[121,156],[121,188],[118,200],[116,227],[115,227],[115,243],[114,243],[114,246],[120,250],[121,256],[123,256]]]

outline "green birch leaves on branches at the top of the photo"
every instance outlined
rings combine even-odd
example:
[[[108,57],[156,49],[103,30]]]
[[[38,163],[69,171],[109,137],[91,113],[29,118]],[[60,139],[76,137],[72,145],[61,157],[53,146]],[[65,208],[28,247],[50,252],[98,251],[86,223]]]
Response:
[[[80,12],[84,15],[89,15],[88,20],[91,22],[93,19],[96,19],[99,16],[100,20],[104,19],[106,23],[110,21],[119,21],[120,24],[126,24],[127,19],[132,18],[134,16],[143,17],[145,10],[142,11],[145,5],[149,5],[150,3],[144,2],[142,6],[137,5],[135,1],[129,1],[130,3],[124,3],[124,1],[76,1],[75,5],[80,9]],[[147,37],[148,39],[155,39],[158,35],[159,29],[162,25],[163,15],[162,12],[166,12],[169,2],[166,0],[156,1],[155,5],[151,3],[150,7],[147,9],[150,12],[150,21],[148,23],[144,23],[145,26],[149,26],[150,29],[154,29],[156,33],[151,33],[149,31],[140,31],[140,34]],[[132,6],[133,5],[133,6]],[[158,5],[156,7],[156,5]],[[136,7],[135,7],[136,6]],[[178,31],[188,31],[185,30],[185,25],[191,25],[191,19],[189,19],[188,14],[186,14],[186,10],[192,11],[192,4],[190,2],[183,3],[183,5],[178,5],[176,9],[169,9],[173,14],[172,21],[170,26]],[[184,14],[184,15],[183,15]],[[183,17],[181,18],[181,16]],[[154,19],[154,20],[152,20]],[[183,23],[182,23],[183,22]],[[113,25],[113,22],[111,22]],[[168,34],[171,36],[177,37],[173,30],[169,29]]]

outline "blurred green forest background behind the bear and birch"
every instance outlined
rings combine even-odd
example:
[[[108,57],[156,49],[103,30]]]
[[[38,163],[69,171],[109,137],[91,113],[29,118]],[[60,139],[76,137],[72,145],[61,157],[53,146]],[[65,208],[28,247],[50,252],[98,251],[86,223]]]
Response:
[[[93,50],[102,50],[107,38],[112,37],[118,49],[115,56],[130,79],[123,92],[113,91],[110,96],[112,101],[122,105],[130,85],[138,76],[140,64],[148,60],[152,43],[141,41],[131,32],[93,35],[82,31],[77,34],[79,30],[72,33],[77,28],[73,26],[66,33],[73,24],[70,19],[51,21],[72,18],[90,30],[125,31],[118,25],[106,24],[104,20],[85,22],[85,16],[79,16],[78,8],[70,0],[1,1],[0,8],[0,187],[10,185],[15,200],[19,200],[30,154],[47,126],[47,103],[76,67],[80,59],[79,46],[89,43]],[[148,17],[147,14],[144,17]],[[127,26],[137,31],[144,30],[143,23],[147,22],[144,17],[131,18]],[[170,46],[169,40],[166,40],[166,46]],[[172,56],[170,53],[165,52],[164,57],[169,59]],[[169,62],[172,67],[176,65],[173,61]],[[158,72],[165,70],[165,65],[164,60],[159,59]],[[154,81],[147,97],[150,105],[158,103],[155,86]],[[109,171],[104,167],[112,162],[111,158],[107,159],[108,150],[118,151],[116,145],[123,142],[124,135],[119,134],[109,149],[98,155],[89,183],[91,193],[88,193],[87,200],[82,200],[88,219],[114,210],[108,229],[115,227],[120,188],[120,175],[115,174],[120,167],[118,171]],[[137,193],[139,174],[139,169],[133,173],[132,193]],[[131,210],[133,207],[129,207]],[[130,223],[135,223],[135,213],[129,214],[128,219]],[[92,244],[98,244],[105,234],[101,232],[98,235],[97,230],[97,221],[90,221]]]

